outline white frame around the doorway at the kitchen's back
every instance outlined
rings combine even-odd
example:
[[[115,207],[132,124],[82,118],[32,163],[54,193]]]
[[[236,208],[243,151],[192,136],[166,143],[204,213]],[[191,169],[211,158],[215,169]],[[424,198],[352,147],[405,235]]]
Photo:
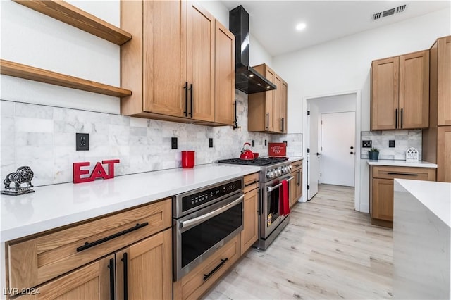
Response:
[[[309,143],[310,133],[307,132],[307,100],[330,97],[330,96],[341,96],[345,94],[355,94],[355,164],[354,164],[354,210],[360,211],[360,153],[361,153],[361,145],[360,145],[360,131],[362,127],[362,91],[360,89],[354,89],[351,91],[345,92],[335,92],[330,94],[319,94],[319,95],[311,95],[302,97],[302,153],[307,155],[307,144]],[[305,130],[304,130],[305,129]],[[307,157],[307,156],[306,156]],[[302,181],[307,182],[307,172],[304,172],[302,175]],[[307,183],[302,187],[302,194],[307,195]],[[305,198],[307,199],[307,197]]]

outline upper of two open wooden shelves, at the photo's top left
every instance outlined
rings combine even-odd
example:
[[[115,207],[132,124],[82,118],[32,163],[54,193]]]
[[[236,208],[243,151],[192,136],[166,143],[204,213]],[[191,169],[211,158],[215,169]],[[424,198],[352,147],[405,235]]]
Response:
[[[116,27],[100,18],[97,18],[86,11],[82,11],[80,8],[68,4],[65,1],[53,1],[53,0],[13,0],[18,4],[27,6],[39,13],[44,13],[44,15],[49,15],[51,18],[60,20],[61,22],[67,23],[78,29],[84,30],[106,39],[114,44],[122,45],[128,42],[132,35]]]

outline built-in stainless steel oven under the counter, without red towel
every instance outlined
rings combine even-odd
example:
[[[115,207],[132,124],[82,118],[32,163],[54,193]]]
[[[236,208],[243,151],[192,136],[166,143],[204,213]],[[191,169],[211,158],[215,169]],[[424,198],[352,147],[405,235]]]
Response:
[[[240,233],[244,197],[242,177],[174,196],[174,280]]]

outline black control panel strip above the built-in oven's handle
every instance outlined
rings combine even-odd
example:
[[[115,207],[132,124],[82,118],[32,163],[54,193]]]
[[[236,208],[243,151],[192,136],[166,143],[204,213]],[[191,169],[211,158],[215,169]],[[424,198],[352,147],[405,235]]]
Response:
[[[223,185],[217,185],[204,189],[202,192],[194,192],[193,194],[188,194],[182,198],[182,211],[188,211],[197,206],[204,205],[208,202],[214,201],[222,196],[228,194],[233,194],[236,191],[242,189],[242,180],[235,180],[233,182],[228,182]]]

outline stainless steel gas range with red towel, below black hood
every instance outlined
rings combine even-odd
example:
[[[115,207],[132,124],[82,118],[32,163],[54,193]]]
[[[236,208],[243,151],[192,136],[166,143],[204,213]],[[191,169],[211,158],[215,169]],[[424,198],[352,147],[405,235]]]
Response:
[[[218,163],[254,165],[259,173],[259,239],[254,244],[258,249],[266,249],[288,224],[290,215],[280,214],[280,189],[283,180],[288,181],[290,190],[291,165],[286,157],[259,157],[249,160],[232,158]]]

